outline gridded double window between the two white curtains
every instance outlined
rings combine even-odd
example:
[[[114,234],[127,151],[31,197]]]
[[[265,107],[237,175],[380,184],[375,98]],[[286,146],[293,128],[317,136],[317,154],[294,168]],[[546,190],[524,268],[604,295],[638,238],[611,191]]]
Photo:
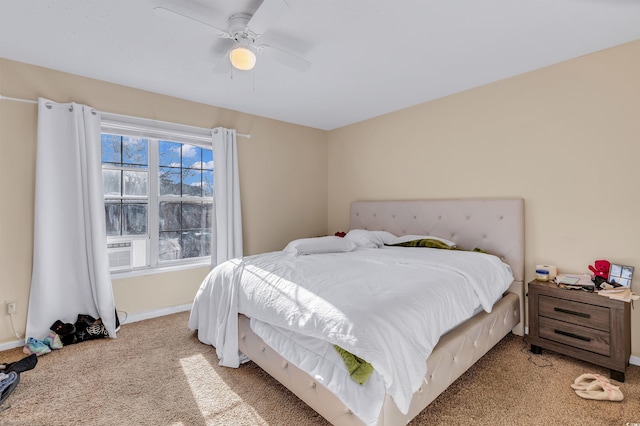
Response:
[[[111,270],[208,261],[212,150],[153,132],[130,133],[103,125],[101,135]]]

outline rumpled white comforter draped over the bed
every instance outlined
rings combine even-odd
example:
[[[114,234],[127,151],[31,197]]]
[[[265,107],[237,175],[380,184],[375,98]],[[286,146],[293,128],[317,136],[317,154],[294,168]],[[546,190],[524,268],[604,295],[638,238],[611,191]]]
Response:
[[[189,327],[229,367],[240,362],[238,313],[337,344],[370,362],[406,413],[440,336],[478,303],[490,312],[512,281],[508,265],[473,252],[273,252],[214,268],[195,297]]]

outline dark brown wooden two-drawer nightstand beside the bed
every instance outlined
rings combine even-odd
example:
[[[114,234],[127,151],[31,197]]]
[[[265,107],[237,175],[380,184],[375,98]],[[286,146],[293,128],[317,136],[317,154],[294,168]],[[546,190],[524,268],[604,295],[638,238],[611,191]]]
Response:
[[[555,283],[529,283],[531,352],[542,348],[588,361],[624,382],[631,355],[631,304],[588,293],[564,290]]]

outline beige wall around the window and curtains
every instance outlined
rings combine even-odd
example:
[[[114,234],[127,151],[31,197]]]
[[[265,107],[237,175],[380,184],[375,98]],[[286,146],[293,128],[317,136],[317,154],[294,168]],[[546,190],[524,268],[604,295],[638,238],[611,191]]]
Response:
[[[230,83],[231,84],[231,83]],[[282,249],[327,228],[324,131],[188,102],[0,58],[0,94],[75,101],[106,112],[199,127],[238,138],[245,254]],[[24,331],[31,281],[36,105],[0,101],[0,343],[13,341],[4,301],[16,301]],[[118,309],[130,313],[191,303],[207,268],[114,280]]]

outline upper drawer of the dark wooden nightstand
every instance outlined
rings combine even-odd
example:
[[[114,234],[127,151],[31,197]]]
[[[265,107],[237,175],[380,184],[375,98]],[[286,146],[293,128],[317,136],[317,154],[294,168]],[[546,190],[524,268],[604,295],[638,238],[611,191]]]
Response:
[[[609,332],[610,314],[606,307],[540,295],[538,312],[543,317]]]

